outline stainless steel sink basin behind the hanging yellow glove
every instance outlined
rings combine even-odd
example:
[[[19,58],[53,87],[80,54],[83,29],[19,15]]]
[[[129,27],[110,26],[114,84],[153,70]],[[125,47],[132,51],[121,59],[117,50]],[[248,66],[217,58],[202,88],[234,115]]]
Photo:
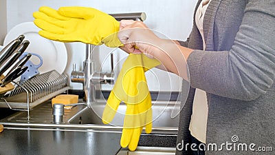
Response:
[[[91,107],[85,107],[78,113],[74,114],[72,118],[68,119],[70,124],[96,124],[104,125],[101,120],[102,112],[106,103],[97,102]],[[177,127],[179,123],[179,115],[172,117],[172,111],[179,111],[179,103],[176,102],[157,102],[153,104],[153,127]],[[113,121],[109,125],[122,126],[124,121],[124,113],[126,111],[126,105],[120,104],[118,111],[113,118]],[[174,112],[175,112],[174,111]]]

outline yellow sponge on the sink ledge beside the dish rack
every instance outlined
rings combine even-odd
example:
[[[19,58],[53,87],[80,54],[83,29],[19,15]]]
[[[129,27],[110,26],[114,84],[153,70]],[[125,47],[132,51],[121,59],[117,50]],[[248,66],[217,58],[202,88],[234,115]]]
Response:
[[[69,105],[72,103],[78,103],[78,95],[74,94],[60,94],[52,99],[52,105],[55,103],[61,103],[63,105]],[[65,107],[65,108],[72,108],[72,106]]]

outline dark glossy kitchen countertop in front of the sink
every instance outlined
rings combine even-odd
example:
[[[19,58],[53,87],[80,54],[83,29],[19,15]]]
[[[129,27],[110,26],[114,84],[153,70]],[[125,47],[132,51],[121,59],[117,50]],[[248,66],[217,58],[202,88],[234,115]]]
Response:
[[[0,154],[113,155],[120,150],[120,132],[5,127]],[[139,146],[175,147],[176,135],[142,134]]]

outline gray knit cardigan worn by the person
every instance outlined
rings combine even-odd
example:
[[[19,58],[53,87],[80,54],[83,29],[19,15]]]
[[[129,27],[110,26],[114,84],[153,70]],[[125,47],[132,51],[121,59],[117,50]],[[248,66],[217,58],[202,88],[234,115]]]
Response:
[[[195,20],[190,37],[180,42],[194,52],[187,60],[191,87],[177,144],[191,144],[188,127],[199,88],[208,97],[206,149],[212,151],[206,154],[275,154],[275,0],[212,0],[203,34],[206,51]],[[260,152],[263,147],[272,152]],[[176,154],[190,152],[184,147]]]

